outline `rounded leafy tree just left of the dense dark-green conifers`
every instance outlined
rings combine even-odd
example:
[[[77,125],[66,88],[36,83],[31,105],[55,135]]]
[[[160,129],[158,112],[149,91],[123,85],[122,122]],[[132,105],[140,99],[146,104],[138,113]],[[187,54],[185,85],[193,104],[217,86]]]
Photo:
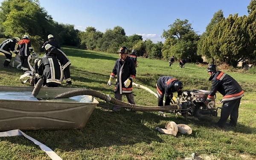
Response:
[[[190,61],[197,61],[195,57],[197,51],[197,41],[199,35],[193,30],[188,20],[177,19],[170,24],[169,30],[163,31],[163,38],[166,41],[163,44],[163,58],[169,58],[174,55],[177,58],[189,58]]]

